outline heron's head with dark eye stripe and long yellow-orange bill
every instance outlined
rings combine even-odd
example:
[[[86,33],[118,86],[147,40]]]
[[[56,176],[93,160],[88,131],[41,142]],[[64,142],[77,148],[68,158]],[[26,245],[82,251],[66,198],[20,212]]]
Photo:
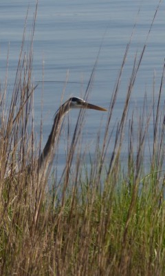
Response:
[[[101,108],[100,106],[95,106],[94,104],[87,103],[87,101],[80,99],[78,97],[72,97],[69,99],[69,108],[87,108],[100,111],[107,111],[107,109],[105,108]]]

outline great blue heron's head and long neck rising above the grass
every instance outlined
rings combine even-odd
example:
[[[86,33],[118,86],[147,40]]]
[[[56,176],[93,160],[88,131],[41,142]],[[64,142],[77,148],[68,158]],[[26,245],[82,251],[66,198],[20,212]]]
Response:
[[[52,155],[54,151],[54,144],[56,141],[56,137],[58,136],[59,128],[61,127],[61,122],[64,117],[64,115],[69,112],[72,108],[87,108],[87,109],[95,109],[95,110],[101,110],[101,111],[107,111],[105,108],[101,108],[100,106],[94,106],[94,104],[87,103],[83,99],[80,99],[78,97],[72,97],[65,101],[60,108],[58,108],[56,115],[54,117],[54,124],[52,126],[52,130],[50,132],[50,136],[47,139],[47,143],[45,145],[45,148],[43,149],[43,152],[41,152],[41,155],[37,161],[37,166],[39,172],[42,168],[47,168],[47,166],[50,164],[50,161],[52,161]]]

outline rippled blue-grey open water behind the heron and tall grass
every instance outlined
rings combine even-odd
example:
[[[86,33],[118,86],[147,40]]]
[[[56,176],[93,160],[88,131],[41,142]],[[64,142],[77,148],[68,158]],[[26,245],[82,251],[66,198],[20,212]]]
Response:
[[[135,30],[122,75],[120,94],[115,108],[115,119],[120,119],[120,110],[131,77],[135,55],[140,55],[151,26],[159,1],[52,1],[39,0],[34,36],[34,81],[43,80],[43,144],[50,133],[54,112],[61,103],[61,95],[67,74],[69,74],[64,100],[70,96],[83,97],[91,71],[100,51],[98,65],[89,101],[108,108],[122,59],[129,42],[133,25]],[[12,90],[16,74],[23,26],[28,13],[27,38],[34,16],[35,1],[9,1],[0,3],[0,79],[5,79],[5,66],[10,48],[8,91]],[[142,65],[137,74],[132,95],[132,107],[142,106],[144,93],[148,98],[158,94],[165,57],[165,4],[162,1],[149,34]],[[40,83],[34,98],[35,127],[39,132],[41,118],[41,98],[43,84]],[[78,111],[73,110],[72,126]],[[107,115],[89,110],[83,135],[89,146],[94,144],[98,126],[102,127]],[[65,130],[64,130],[65,131]],[[63,139],[65,140],[65,138]],[[65,141],[61,142],[61,149]],[[61,150],[61,164],[65,162],[65,152]]]

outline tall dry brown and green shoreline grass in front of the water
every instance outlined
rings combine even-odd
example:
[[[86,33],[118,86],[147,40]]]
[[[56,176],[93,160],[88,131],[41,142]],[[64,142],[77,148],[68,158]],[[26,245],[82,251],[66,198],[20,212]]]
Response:
[[[67,150],[65,170],[58,180],[57,168],[54,168],[50,186],[48,176],[52,170],[48,175],[43,172],[39,178],[35,163],[42,150],[41,143],[36,146],[34,134],[32,61],[35,21],[36,12],[26,55],[25,32],[23,34],[9,109],[6,107],[8,68],[5,86],[1,88],[0,274],[163,276],[165,170],[161,101],[164,67],[158,97],[153,92],[153,102],[148,107],[145,96],[140,115],[137,117],[132,113],[128,116],[145,42],[141,55],[135,57],[122,116],[118,124],[110,128],[130,39],[109,103],[103,140],[98,133],[95,158],[87,168],[85,152],[80,149],[85,110],[80,110]],[[96,64],[85,99],[91,90]],[[126,131],[128,154],[123,166],[121,153]],[[152,141],[149,139],[151,132]],[[146,145],[150,149],[147,170],[144,164]],[[109,157],[110,147],[113,150]],[[25,169],[28,164],[33,168],[30,175]]]

